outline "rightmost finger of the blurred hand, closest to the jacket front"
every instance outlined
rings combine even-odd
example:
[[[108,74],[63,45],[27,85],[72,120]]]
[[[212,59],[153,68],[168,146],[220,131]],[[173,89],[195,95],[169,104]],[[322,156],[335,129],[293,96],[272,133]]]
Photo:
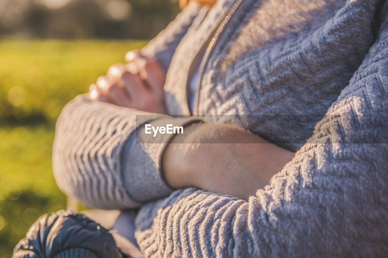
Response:
[[[140,78],[146,81],[152,90],[157,92],[163,91],[166,73],[156,59],[136,59],[133,62],[139,70]]]

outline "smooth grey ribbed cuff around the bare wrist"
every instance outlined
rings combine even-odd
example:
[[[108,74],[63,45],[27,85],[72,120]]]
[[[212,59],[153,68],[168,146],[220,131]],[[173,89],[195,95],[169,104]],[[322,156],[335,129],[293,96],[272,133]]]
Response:
[[[157,126],[187,126],[192,123],[202,122],[193,117],[172,118],[165,116],[146,122],[137,126],[135,133],[132,133],[122,157],[123,181],[130,197],[140,203],[159,199],[170,195],[174,189],[171,188],[163,178],[161,172],[161,157],[167,144],[174,134],[158,134],[153,137],[154,132],[145,134],[145,124]]]

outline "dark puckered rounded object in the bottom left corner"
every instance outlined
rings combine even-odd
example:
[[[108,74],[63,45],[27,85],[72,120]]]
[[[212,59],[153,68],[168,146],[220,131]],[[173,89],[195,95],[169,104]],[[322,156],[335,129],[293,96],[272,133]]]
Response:
[[[81,214],[60,210],[40,217],[13,258],[121,258],[108,230]]]

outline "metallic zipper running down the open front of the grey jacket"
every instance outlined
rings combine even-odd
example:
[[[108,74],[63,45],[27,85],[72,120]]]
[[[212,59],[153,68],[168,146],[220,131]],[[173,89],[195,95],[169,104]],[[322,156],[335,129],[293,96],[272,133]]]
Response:
[[[213,35],[213,38],[211,38],[208,48],[206,48],[206,52],[202,58],[201,64],[199,65],[199,79],[198,79],[197,91],[194,95],[194,103],[193,103],[193,115],[195,116],[198,115],[199,91],[201,90],[201,81],[203,79],[205,68],[206,68],[206,65],[208,64],[211,52],[213,52],[214,46],[217,44],[217,41],[220,38],[222,32],[224,31],[226,25],[230,21],[230,18],[232,18],[237,8],[241,5],[242,1],[244,0],[237,0],[229,9],[225,17],[222,19],[222,22],[218,26],[217,31]],[[192,64],[192,61],[190,62],[190,66],[191,64]],[[187,87],[188,87],[188,80],[186,81],[185,104],[186,104],[186,110],[188,114],[190,114],[191,112],[189,109],[189,104],[187,103]]]

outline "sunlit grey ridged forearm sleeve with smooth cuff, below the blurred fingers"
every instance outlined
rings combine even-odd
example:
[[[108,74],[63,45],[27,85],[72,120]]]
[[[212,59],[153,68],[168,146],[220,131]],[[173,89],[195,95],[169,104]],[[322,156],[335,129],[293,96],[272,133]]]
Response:
[[[62,110],[55,128],[53,170],[59,188],[85,205],[136,208],[172,193],[161,174],[161,155],[173,134],[144,134],[152,126],[185,126],[172,118],[90,101],[80,95]]]

